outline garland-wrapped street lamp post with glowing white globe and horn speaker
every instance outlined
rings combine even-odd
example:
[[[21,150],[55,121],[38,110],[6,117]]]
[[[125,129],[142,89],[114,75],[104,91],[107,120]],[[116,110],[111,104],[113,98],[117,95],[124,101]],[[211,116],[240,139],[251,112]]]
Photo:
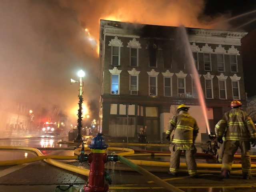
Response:
[[[84,75],[85,75],[85,73],[84,73],[84,71],[83,70],[80,70],[80,71],[78,71],[78,76],[80,77],[80,79],[79,79],[79,94],[78,94],[78,98],[79,98],[79,102],[78,102],[78,106],[79,106],[79,108],[78,108],[78,114],[77,114],[77,116],[78,116],[78,120],[77,120],[77,123],[78,123],[78,125],[77,125],[77,130],[78,130],[78,134],[77,134],[77,138],[76,138],[76,140],[75,140],[75,142],[82,142],[82,137],[81,137],[81,128],[82,128],[82,103],[83,103],[83,86],[84,86],[84,83],[82,82],[82,78],[84,77]],[[72,82],[77,82],[77,81],[74,81],[74,80],[72,80],[71,79],[71,83]]]

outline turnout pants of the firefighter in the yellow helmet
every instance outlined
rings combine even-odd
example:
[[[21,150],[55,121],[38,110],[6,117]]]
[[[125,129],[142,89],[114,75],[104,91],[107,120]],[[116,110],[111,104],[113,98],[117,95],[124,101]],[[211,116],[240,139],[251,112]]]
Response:
[[[194,154],[196,153],[196,149],[194,150],[183,150],[186,157],[186,165],[188,168],[188,174],[190,176],[197,175],[196,170],[196,159]],[[180,167],[180,155],[182,153],[181,149],[177,149],[175,144],[170,144],[170,152],[171,152],[171,158],[170,158],[170,172],[173,174],[176,174]]]

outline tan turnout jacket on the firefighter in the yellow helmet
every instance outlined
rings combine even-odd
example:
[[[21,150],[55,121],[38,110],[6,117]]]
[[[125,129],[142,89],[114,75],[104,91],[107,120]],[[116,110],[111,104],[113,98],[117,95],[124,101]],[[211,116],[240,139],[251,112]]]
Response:
[[[169,127],[166,134],[174,134],[171,142],[176,144],[177,149],[193,150],[194,141],[198,134],[198,126],[196,120],[191,117],[188,112],[180,111],[169,121]]]

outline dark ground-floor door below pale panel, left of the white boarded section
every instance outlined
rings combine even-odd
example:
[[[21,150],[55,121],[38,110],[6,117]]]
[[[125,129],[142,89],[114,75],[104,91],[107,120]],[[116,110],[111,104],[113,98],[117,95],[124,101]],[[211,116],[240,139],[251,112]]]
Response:
[[[147,118],[146,126],[147,141],[160,141],[160,130],[158,130],[158,118]]]

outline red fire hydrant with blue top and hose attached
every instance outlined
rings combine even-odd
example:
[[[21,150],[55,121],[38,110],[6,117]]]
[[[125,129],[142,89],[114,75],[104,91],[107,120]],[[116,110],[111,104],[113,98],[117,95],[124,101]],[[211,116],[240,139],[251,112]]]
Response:
[[[105,153],[108,144],[105,144],[102,135],[98,133],[92,139],[92,144],[88,145],[91,149],[89,154],[84,154],[84,143],[82,143],[81,153],[77,158],[79,162],[88,161],[90,164],[89,181],[84,185],[85,192],[107,192],[108,184],[112,183],[108,172],[104,171],[104,165],[107,161],[118,161],[118,156]],[[105,184],[105,179],[108,184]]]

